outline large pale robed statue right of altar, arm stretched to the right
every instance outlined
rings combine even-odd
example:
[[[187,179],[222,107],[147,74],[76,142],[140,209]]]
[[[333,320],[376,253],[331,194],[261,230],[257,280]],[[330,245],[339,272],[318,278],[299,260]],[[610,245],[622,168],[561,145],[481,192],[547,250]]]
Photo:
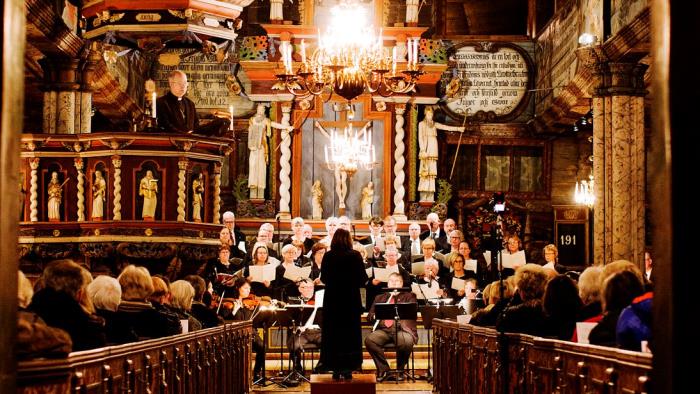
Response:
[[[425,109],[425,118],[418,123],[418,191],[420,200],[435,201],[435,178],[437,177],[438,143],[437,131],[464,132],[464,127],[448,126],[433,120],[433,109]]]

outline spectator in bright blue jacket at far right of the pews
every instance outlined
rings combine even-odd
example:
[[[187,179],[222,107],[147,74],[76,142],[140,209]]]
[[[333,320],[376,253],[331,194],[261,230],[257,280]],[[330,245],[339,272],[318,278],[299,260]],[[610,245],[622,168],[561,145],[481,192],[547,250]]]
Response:
[[[650,291],[632,301],[617,319],[617,346],[644,351],[642,341],[651,346],[651,304],[654,294]]]

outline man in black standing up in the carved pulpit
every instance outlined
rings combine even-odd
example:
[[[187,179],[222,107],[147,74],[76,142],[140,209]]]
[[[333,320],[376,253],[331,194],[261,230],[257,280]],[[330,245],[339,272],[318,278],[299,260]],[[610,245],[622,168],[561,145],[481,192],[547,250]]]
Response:
[[[197,133],[207,136],[223,135],[229,128],[230,120],[214,118],[205,126],[199,125],[199,117],[194,102],[185,97],[187,75],[174,70],[168,75],[170,91],[156,100],[158,127],[166,133]]]

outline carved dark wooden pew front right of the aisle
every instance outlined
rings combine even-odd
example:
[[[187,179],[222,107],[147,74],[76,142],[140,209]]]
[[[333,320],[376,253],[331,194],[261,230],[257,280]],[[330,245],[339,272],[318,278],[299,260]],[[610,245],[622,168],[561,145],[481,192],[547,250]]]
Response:
[[[650,354],[433,321],[438,393],[647,393]]]

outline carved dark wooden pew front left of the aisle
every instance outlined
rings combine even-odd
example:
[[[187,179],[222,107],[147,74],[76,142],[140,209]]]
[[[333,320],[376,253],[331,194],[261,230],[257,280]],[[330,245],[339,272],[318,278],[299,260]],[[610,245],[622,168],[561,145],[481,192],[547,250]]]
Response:
[[[167,338],[19,363],[20,393],[250,391],[253,329],[237,322]]]

